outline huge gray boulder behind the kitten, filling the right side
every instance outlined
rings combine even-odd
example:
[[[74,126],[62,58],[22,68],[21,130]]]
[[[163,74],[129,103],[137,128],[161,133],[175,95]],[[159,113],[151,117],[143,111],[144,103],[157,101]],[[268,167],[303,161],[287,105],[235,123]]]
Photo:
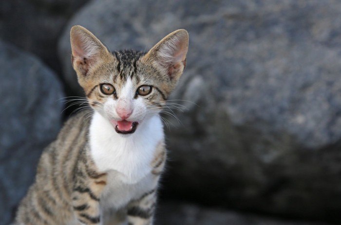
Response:
[[[148,50],[189,31],[188,67],[167,117],[165,195],[285,216],[341,219],[341,2],[93,0],[69,22],[110,50]]]

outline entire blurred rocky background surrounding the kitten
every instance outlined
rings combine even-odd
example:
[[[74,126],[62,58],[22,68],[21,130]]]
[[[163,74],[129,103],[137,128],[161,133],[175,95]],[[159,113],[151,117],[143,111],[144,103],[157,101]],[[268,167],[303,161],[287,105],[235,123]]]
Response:
[[[158,225],[341,224],[340,1],[2,0],[0,225],[82,95],[76,24],[110,50],[189,31]]]

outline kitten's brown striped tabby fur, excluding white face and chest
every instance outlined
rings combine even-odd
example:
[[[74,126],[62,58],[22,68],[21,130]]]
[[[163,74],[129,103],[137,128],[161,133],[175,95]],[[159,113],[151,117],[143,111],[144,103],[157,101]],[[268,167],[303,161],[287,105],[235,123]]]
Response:
[[[95,35],[74,26],[71,45],[73,67],[91,108],[71,117],[57,139],[43,151],[36,181],[22,199],[15,223],[115,225],[128,221],[129,225],[152,225],[157,184],[166,161],[164,140],[157,144],[149,162],[148,176],[152,177],[153,188],[132,197],[124,208],[101,208],[102,193],[110,180],[109,172],[99,171],[91,155],[91,117],[109,98],[100,93],[100,84],[113,84],[119,91],[128,78],[137,84],[151,82],[153,92],[143,101],[161,110],[185,69],[188,33],[171,33],[145,55],[134,51],[112,54]],[[116,95],[111,97],[119,99]]]

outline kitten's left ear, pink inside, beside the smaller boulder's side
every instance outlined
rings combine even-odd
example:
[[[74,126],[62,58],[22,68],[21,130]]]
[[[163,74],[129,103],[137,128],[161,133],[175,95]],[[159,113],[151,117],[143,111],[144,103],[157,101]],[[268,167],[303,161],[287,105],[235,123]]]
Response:
[[[89,69],[101,62],[107,48],[90,31],[82,26],[73,26],[70,32],[72,66],[77,75],[86,76]]]

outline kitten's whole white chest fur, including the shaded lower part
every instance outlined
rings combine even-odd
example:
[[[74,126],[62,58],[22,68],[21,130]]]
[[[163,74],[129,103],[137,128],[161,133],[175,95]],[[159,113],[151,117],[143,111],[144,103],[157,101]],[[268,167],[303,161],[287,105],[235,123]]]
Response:
[[[135,133],[121,135],[95,112],[90,125],[91,155],[98,170],[108,173],[102,197],[114,198],[111,204],[119,206],[153,187],[151,162],[156,145],[163,138],[158,116],[139,124]]]

